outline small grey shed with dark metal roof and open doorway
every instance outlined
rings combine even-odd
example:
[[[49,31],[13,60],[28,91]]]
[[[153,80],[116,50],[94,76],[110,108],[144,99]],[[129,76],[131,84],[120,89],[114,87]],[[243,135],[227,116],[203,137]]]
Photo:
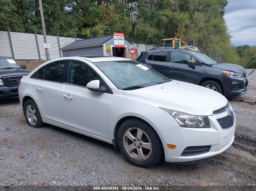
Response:
[[[108,56],[128,58],[128,49],[132,47],[132,44],[126,40],[124,40],[124,43],[124,47],[115,47],[114,36],[106,35],[102,37],[77,40],[67,46],[64,46],[61,50],[63,57],[85,55],[104,56],[104,54],[108,54]]]

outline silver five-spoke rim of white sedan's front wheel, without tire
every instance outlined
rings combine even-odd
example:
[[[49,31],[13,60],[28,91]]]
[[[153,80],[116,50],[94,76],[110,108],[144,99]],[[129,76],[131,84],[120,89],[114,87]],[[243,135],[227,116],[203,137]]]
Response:
[[[123,136],[125,151],[135,160],[145,161],[152,152],[152,145],[148,135],[137,127],[131,127]]]

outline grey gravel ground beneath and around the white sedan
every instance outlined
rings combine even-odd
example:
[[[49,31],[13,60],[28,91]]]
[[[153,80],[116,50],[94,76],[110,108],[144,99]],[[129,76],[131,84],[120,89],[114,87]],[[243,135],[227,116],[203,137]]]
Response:
[[[18,98],[0,100],[0,186],[256,186],[256,105],[237,102],[256,101],[256,72],[248,79],[248,93],[230,99],[234,144],[200,164],[135,167],[108,143],[56,126],[29,127]]]

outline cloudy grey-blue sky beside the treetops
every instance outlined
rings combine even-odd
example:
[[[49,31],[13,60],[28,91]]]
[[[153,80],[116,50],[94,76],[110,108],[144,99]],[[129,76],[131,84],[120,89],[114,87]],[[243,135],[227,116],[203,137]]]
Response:
[[[235,46],[256,46],[256,0],[228,0],[224,18]]]

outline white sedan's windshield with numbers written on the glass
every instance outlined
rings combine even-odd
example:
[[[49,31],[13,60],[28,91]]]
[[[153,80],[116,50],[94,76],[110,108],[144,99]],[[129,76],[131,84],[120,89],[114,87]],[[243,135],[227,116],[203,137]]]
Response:
[[[134,88],[144,88],[170,81],[145,65],[132,60],[94,62],[93,64],[97,66],[118,89],[131,88],[134,86],[136,86]]]

